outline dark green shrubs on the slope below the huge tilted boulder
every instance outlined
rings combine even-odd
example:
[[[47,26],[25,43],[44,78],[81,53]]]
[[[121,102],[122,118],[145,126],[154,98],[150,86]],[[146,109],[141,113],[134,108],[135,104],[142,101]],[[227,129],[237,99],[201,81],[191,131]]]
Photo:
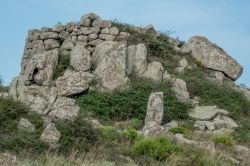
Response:
[[[250,102],[242,93],[206,79],[204,71],[189,71],[183,78],[191,97],[199,96],[201,105],[217,105],[229,111],[234,119],[241,119],[241,115],[244,117],[250,113]]]

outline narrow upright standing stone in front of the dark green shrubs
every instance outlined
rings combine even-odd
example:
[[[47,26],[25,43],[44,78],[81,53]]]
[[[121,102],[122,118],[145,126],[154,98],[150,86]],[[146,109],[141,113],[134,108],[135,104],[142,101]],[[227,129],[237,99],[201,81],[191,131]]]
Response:
[[[164,130],[164,127],[161,126],[162,119],[163,92],[151,93],[148,99],[143,135],[145,137],[154,137],[160,134]]]

